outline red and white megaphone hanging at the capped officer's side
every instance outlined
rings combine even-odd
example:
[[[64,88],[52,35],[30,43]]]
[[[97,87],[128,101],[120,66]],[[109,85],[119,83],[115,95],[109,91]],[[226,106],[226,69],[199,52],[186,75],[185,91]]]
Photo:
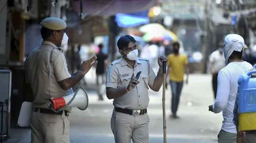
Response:
[[[58,110],[64,106],[72,99],[75,93],[58,97],[52,98],[52,107],[54,110]],[[88,107],[88,96],[84,89],[80,88],[76,94],[74,100],[67,106],[67,107],[78,107],[80,110],[85,110]]]

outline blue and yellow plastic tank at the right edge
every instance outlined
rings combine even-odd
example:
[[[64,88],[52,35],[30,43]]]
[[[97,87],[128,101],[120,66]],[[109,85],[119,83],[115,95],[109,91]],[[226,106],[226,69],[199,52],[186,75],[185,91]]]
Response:
[[[256,71],[241,75],[238,79],[239,131],[256,130]]]

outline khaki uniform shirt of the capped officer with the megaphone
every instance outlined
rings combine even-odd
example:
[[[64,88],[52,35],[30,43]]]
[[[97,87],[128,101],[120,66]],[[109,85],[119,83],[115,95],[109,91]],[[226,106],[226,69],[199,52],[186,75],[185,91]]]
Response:
[[[58,84],[59,81],[71,77],[68,72],[67,62],[64,54],[57,49],[56,45],[43,41],[41,46],[33,50],[26,59],[26,82],[30,84],[33,91],[33,107],[47,108],[49,102],[49,60],[52,48],[51,69],[51,97],[62,97],[67,92]]]

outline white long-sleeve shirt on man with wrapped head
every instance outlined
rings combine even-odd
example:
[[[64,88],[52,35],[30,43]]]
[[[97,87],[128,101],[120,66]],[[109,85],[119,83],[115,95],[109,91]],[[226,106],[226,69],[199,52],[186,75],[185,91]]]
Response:
[[[222,68],[218,74],[217,97],[213,104],[213,112],[223,111],[222,130],[236,133],[233,123],[233,109],[237,95],[238,78],[252,68],[251,64],[244,62],[231,62]]]

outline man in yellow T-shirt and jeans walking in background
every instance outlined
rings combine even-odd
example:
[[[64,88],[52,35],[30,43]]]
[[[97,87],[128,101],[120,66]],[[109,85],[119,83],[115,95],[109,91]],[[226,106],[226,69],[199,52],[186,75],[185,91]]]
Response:
[[[172,118],[178,118],[176,115],[179,101],[180,101],[180,94],[183,87],[183,78],[184,73],[186,70],[186,84],[188,84],[188,60],[185,55],[179,54],[179,48],[180,44],[178,42],[174,42],[172,44],[173,46],[173,53],[168,55],[168,69],[167,69],[167,75],[170,74],[170,85],[171,85],[171,91],[172,91],[172,99],[171,99],[171,111],[172,114],[170,117]],[[167,79],[166,79],[167,81]]]

